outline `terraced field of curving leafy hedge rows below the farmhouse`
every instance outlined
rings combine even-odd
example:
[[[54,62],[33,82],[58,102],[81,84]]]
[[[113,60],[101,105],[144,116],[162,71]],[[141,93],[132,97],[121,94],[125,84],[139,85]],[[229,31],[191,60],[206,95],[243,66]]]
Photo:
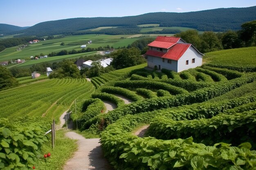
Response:
[[[205,64],[175,73],[140,66],[103,74],[92,78],[98,89],[73,119],[81,120],[81,130],[101,132],[104,155],[115,169],[252,170],[256,73],[237,67]],[[103,114],[101,100],[117,108]],[[132,133],[145,124],[144,137]]]

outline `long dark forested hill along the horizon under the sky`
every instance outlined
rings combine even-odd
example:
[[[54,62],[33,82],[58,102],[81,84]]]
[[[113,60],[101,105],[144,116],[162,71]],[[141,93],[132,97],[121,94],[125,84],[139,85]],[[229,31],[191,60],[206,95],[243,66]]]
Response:
[[[199,31],[238,30],[240,25],[256,20],[256,6],[247,8],[220,8],[186,13],[146,13],[127,17],[71,18],[41,22],[22,30],[25,35],[56,35],[75,33],[79,30],[100,26],[136,26],[160,24],[160,26],[182,26]]]

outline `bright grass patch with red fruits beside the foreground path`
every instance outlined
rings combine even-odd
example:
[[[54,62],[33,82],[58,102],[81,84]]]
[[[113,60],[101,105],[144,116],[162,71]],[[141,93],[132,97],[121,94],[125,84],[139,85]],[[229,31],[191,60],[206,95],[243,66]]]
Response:
[[[40,163],[35,165],[37,170],[62,170],[66,161],[74,155],[78,145],[76,140],[65,137],[66,132],[65,130],[56,131],[54,149],[51,140],[43,145],[43,154],[50,152],[51,156],[44,158],[42,154]]]

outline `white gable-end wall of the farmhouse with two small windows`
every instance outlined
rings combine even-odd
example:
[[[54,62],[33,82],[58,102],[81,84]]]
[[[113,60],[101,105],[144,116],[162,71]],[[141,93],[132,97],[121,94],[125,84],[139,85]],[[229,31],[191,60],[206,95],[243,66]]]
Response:
[[[195,63],[192,63],[192,59],[195,58]],[[186,60],[189,60],[189,64],[186,65]],[[203,56],[198,53],[193,46],[190,46],[189,49],[180,57],[178,60],[177,72],[187,70],[189,68],[195,68],[197,66],[202,66]]]

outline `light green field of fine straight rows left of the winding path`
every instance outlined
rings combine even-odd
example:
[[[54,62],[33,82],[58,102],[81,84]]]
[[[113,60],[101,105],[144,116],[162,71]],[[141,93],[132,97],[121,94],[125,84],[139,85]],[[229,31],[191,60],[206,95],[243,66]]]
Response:
[[[34,80],[34,79],[32,79]],[[31,81],[25,79],[20,81]],[[59,120],[74,99],[89,98],[94,86],[86,79],[44,79],[0,92],[0,117],[44,116]]]

